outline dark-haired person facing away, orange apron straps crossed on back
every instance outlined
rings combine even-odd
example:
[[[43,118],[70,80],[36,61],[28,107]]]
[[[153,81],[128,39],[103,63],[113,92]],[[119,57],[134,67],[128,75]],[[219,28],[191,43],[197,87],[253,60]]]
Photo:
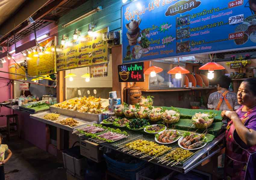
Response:
[[[237,102],[237,95],[228,90],[231,79],[228,76],[220,76],[217,79],[217,92],[210,94],[208,109],[220,111],[234,111],[240,105]]]

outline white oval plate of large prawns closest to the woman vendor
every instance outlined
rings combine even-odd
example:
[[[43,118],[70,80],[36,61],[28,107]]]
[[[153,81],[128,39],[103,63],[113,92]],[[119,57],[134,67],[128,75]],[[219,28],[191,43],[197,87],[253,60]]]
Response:
[[[196,135],[198,135],[198,136],[196,136]],[[200,138],[202,135],[204,135],[204,134],[191,134],[191,135],[189,135],[192,137],[192,139],[190,138],[190,140],[187,140],[187,137],[181,137],[178,141],[178,145],[182,149],[186,149],[186,150],[201,149],[207,145],[207,143],[204,142],[204,140],[203,140],[204,138],[202,138],[201,140],[200,139],[196,140],[196,139]],[[193,139],[194,139],[194,141],[192,141]]]

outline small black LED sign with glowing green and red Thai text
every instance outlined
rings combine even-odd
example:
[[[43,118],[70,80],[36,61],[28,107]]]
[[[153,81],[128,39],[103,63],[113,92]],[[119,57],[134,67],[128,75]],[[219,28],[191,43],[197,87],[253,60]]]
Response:
[[[144,82],[144,63],[118,65],[119,82]]]

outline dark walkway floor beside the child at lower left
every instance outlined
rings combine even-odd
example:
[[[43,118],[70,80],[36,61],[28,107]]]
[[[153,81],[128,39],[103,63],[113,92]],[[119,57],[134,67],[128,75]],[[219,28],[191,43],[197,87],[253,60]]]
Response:
[[[25,140],[12,137],[7,144],[13,152],[5,165],[6,180],[66,180],[62,160]]]

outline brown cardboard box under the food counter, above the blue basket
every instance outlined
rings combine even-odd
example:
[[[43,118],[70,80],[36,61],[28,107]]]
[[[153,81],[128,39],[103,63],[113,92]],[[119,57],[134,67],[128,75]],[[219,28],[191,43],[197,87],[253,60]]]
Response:
[[[80,139],[80,154],[96,163],[101,162],[103,159],[103,153],[100,147],[101,146],[96,143]]]

